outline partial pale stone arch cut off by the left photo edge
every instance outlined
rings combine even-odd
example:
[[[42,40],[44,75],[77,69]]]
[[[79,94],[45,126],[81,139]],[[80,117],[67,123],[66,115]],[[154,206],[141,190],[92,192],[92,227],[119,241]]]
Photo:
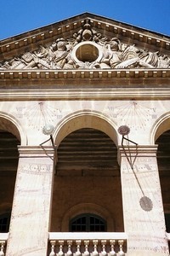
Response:
[[[0,129],[11,132],[15,137],[18,138],[18,140],[20,140],[20,145],[26,146],[26,132],[20,125],[19,120],[17,120],[13,115],[0,112]]]

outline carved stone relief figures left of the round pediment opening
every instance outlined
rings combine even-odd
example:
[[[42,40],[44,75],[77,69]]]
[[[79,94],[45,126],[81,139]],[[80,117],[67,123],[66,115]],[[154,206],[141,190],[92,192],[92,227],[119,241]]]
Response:
[[[0,69],[61,69],[72,68],[71,45],[58,38],[51,46],[40,46],[34,52],[26,52],[19,58],[4,62]]]

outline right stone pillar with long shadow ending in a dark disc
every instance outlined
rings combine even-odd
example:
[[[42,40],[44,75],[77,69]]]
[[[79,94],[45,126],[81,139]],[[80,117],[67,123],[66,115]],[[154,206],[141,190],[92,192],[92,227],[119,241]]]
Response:
[[[169,255],[156,149],[119,148],[128,256]]]

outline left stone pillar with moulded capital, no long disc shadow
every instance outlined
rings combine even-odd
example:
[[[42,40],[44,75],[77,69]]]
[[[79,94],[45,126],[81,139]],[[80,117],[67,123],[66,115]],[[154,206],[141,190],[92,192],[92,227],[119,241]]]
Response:
[[[53,147],[20,147],[8,256],[47,256],[55,154]]]

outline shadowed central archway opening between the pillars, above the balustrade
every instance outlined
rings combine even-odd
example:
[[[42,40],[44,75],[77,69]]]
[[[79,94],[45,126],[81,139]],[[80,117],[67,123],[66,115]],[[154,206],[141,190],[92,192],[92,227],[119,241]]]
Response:
[[[69,231],[70,219],[61,226],[63,216],[78,204],[107,209],[114,222],[109,231],[124,231],[120,168],[111,137],[94,128],[77,129],[59,143],[57,153],[51,231]],[[75,213],[69,218],[75,218]],[[101,212],[99,216],[105,218]]]

